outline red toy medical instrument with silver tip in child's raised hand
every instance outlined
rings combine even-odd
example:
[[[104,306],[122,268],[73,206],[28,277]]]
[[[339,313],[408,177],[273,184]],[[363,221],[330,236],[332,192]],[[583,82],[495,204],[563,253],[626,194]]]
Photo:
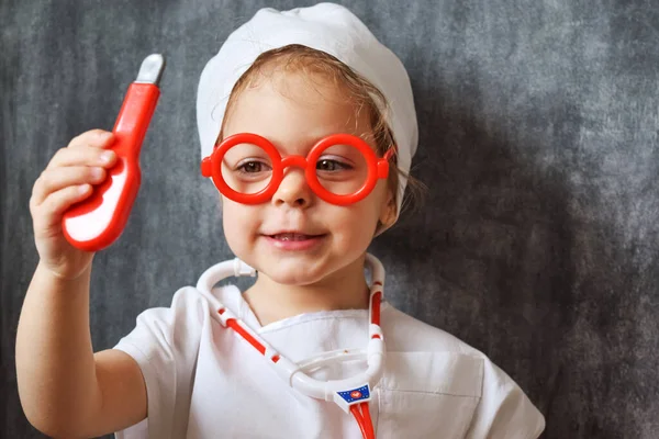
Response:
[[[105,181],[86,200],[71,206],[62,219],[66,239],[75,247],[98,251],[110,246],[124,229],[139,189],[139,149],[152,120],[165,69],[163,55],[147,56],[131,83],[112,132],[116,165]]]

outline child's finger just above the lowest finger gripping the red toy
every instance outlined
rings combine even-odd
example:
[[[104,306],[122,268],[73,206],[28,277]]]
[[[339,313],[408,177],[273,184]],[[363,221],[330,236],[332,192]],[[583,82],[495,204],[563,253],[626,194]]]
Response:
[[[105,180],[108,172],[101,167],[69,166],[46,169],[34,183],[30,204],[38,206],[53,192],[80,184],[99,184]]]

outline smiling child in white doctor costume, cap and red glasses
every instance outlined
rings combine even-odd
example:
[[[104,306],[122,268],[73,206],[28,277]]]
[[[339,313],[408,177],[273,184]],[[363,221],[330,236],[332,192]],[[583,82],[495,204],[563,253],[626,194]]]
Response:
[[[36,428],[67,438],[539,436],[540,413],[483,353],[380,304],[383,270],[366,250],[398,218],[417,128],[402,64],[355,15],[331,3],[259,11],[208,63],[198,121],[202,173],[246,263],[235,267],[256,270],[255,283],[217,286],[234,266],[213,268],[93,353],[92,255],[65,240],[60,222],[116,156],[111,133],[74,138],[31,199],[41,260],[16,367]]]

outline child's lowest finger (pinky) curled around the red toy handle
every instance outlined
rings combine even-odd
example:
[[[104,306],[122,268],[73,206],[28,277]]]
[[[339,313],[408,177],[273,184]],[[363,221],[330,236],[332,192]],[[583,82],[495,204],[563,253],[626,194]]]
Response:
[[[53,228],[59,229],[62,216],[75,203],[78,203],[91,194],[90,184],[70,185],[53,192],[37,207],[34,209],[35,235],[48,233]],[[43,236],[43,235],[42,235]]]

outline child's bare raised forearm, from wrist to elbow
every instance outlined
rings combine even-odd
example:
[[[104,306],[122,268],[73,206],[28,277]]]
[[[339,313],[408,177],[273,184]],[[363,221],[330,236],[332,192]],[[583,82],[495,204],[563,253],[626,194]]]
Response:
[[[91,267],[91,264],[90,264]],[[91,268],[66,281],[37,267],[21,311],[16,376],[25,415],[53,436],[85,428],[101,403],[89,329]]]

